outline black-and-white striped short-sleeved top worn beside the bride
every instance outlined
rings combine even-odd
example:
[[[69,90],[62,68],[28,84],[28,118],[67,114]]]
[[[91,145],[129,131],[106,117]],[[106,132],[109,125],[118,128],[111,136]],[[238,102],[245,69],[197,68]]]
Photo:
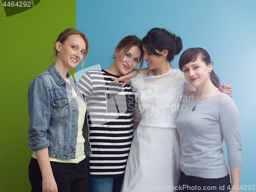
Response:
[[[87,100],[90,127],[91,177],[124,175],[133,140],[134,95],[129,85],[112,83],[119,77],[104,70],[86,72],[77,86]]]

